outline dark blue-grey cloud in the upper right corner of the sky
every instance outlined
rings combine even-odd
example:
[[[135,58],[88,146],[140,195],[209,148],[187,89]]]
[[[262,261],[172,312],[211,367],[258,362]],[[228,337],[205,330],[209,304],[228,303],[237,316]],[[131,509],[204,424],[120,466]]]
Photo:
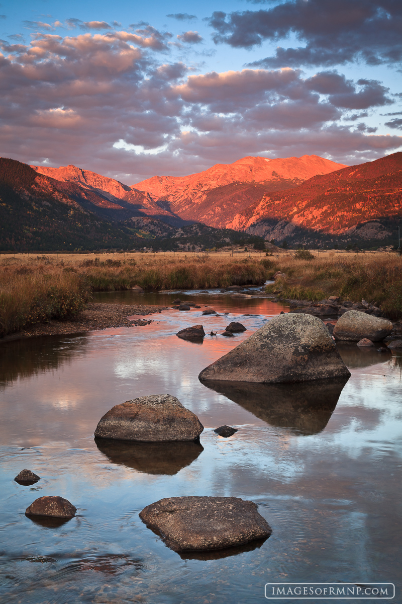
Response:
[[[283,48],[250,66],[332,66],[353,60],[370,65],[402,58],[402,4],[393,0],[288,0],[267,10],[215,11],[215,43],[251,48],[288,36],[301,45]]]

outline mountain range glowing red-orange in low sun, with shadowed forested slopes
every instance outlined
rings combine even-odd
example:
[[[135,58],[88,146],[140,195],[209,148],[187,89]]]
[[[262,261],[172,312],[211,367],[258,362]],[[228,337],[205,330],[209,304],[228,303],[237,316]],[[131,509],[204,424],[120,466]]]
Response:
[[[202,246],[204,236],[218,242],[221,229],[226,243],[236,237],[299,245],[389,243],[402,214],[401,191],[402,153],[355,166],[316,155],[246,157],[189,176],[153,176],[133,186],[74,165],[29,167],[2,158],[0,196],[8,202],[0,202],[1,246],[13,249],[18,240],[19,246],[36,242],[35,249],[45,249],[39,246],[41,237],[49,245],[52,229],[58,229],[60,249],[63,224],[74,248],[90,248],[90,241],[104,247],[143,246],[144,238],[189,245],[195,233]],[[46,203],[59,208],[55,216]],[[74,216],[77,225],[86,225],[82,232],[72,226]],[[200,226],[190,227],[194,223]]]

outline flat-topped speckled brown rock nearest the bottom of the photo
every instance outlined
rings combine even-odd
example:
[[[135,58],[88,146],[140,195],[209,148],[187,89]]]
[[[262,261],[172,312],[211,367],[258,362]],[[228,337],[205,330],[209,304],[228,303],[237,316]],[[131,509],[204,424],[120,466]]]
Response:
[[[210,551],[266,539],[272,529],[253,501],[237,497],[171,497],[140,512],[172,550]]]

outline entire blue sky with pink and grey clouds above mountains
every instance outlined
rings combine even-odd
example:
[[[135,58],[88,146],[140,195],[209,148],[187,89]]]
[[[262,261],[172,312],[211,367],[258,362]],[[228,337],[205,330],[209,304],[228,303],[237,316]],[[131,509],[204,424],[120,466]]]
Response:
[[[0,156],[128,185],[402,150],[401,0],[0,0]]]

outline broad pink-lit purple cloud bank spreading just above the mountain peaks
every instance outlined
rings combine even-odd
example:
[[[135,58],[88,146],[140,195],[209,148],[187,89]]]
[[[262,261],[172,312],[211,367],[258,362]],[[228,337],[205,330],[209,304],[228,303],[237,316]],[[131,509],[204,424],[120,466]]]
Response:
[[[402,145],[402,136],[371,133],[366,111],[341,122],[350,107],[388,103],[380,82],[290,68],[195,75],[154,54],[169,36],[143,25],[0,42],[0,155],[134,184],[246,155],[357,163]]]

